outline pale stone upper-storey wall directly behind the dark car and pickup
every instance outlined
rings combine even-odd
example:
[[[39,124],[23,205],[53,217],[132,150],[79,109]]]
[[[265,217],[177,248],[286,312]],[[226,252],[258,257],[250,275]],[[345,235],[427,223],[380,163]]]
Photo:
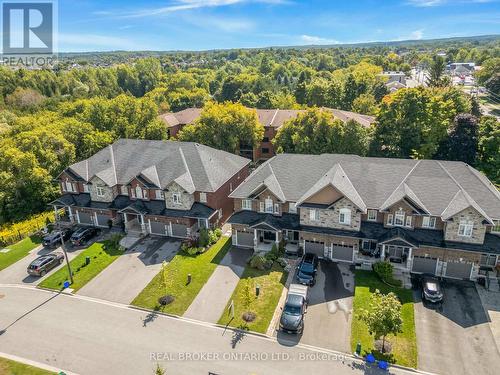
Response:
[[[351,225],[339,223],[340,209],[349,208],[351,210]],[[347,229],[359,231],[361,227],[361,213],[358,208],[347,198],[342,198],[335,203],[331,209],[319,209],[319,220],[311,220],[311,209],[307,207],[300,208],[300,224],[314,227],[326,227],[335,229]]]

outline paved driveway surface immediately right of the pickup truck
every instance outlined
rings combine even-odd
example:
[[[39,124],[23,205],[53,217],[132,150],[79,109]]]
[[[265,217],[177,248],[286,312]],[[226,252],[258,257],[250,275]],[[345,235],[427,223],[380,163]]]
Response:
[[[298,343],[350,352],[354,273],[348,264],[321,260],[300,336],[278,331],[284,345]]]

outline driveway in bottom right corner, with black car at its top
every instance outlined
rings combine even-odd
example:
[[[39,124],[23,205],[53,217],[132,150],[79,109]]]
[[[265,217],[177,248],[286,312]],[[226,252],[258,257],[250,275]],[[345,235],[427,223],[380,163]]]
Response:
[[[474,284],[446,281],[441,306],[424,305],[415,291],[418,367],[439,374],[498,374],[498,353]]]

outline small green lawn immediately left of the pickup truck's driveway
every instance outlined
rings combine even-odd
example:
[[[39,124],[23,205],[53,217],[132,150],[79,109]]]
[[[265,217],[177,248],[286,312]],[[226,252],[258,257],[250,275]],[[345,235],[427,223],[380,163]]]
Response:
[[[283,271],[283,268],[276,263],[270,270],[261,271],[251,267],[245,268],[245,272],[231,297],[231,300],[234,300],[234,319],[229,322],[230,317],[228,315],[228,309],[231,303],[230,300],[219,319],[219,324],[226,325],[229,323],[232,327],[266,333],[271,323],[271,319],[273,318],[274,311],[276,310],[276,305],[281,297],[287,275],[288,274]],[[241,317],[245,312],[242,302],[242,290],[246,278],[250,278],[251,280],[253,287],[252,291],[255,291],[256,285],[260,286],[260,294],[258,297],[254,298],[250,306],[250,311],[256,314],[256,318],[250,323],[246,323]]]

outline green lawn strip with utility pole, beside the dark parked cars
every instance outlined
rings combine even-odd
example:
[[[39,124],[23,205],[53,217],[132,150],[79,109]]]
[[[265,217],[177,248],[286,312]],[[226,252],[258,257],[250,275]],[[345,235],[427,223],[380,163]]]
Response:
[[[95,242],[87,249],[83,250],[75,259],[70,262],[73,271],[73,284],[71,288],[77,291],[90,280],[96,277],[102,270],[113,263],[123,254],[120,247],[107,240]],[[85,258],[90,257],[90,264],[85,266]],[[61,290],[66,280],[69,280],[66,266],[47,277],[40,283],[43,288]]]

